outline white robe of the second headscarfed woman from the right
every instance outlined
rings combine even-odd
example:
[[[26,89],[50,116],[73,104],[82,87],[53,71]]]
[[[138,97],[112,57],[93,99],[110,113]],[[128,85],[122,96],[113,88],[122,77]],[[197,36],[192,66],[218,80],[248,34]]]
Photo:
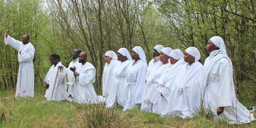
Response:
[[[166,115],[191,117],[201,105],[202,64],[182,65],[170,92]]]

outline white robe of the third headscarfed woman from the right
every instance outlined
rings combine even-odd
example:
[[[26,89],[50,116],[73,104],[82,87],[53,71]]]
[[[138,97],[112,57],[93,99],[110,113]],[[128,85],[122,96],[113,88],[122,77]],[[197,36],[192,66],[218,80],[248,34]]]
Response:
[[[180,59],[175,64],[170,65],[168,69],[163,72],[158,81],[158,92],[153,103],[152,110],[161,116],[166,113],[168,100],[170,100],[170,92],[177,75],[180,73],[182,65],[185,64],[183,59]],[[162,94],[162,96],[161,96]]]

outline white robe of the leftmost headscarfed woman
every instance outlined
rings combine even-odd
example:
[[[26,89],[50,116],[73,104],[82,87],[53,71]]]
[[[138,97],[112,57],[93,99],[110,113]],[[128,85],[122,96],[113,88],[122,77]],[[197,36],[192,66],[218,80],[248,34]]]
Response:
[[[112,81],[112,73],[113,70],[116,68],[116,64],[119,61],[116,59],[112,59],[110,64],[106,63],[103,70],[102,76],[102,96],[105,96],[105,100],[108,100],[110,94],[110,86]]]

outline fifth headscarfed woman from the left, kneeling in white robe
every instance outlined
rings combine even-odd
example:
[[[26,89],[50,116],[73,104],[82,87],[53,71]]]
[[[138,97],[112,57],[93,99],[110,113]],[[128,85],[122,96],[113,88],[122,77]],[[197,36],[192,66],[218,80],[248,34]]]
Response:
[[[146,81],[146,89],[143,96],[143,102],[141,103],[141,110],[146,112],[152,112],[153,103],[158,90],[158,81],[161,75],[170,66],[169,54],[172,52],[172,48],[165,47],[160,51],[160,62],[151,72],[149,79]]]

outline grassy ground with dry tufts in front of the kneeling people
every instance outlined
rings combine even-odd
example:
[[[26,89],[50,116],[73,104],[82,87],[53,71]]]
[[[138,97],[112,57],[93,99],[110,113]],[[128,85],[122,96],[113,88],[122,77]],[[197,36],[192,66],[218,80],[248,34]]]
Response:
[[[205,116],[193,119],[163,118],[140,110],[106,109],[104,104],[80,105],[67,101],[49,102],[43,87],[36,87],[34,98],[14,100],[13,91],[0,91],[0,128],[256,128],[256,121],[229,125]],[[253,106],[255,104],[248,104]]]

